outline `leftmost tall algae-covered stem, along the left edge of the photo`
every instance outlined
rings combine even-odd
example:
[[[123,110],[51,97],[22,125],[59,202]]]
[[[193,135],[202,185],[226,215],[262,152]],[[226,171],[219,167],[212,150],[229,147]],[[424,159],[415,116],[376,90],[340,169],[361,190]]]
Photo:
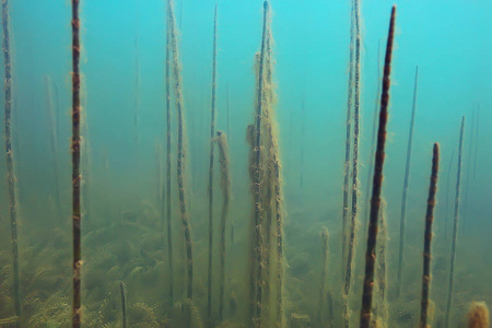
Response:
[[[17,247],[17,214],[15,203],[15,176],[12,153],[12,62],[10,58],[10,30],[9,30],[9,1],[2,0],[3,22],[3,65],[5,78],[3,86],[5,92],[5,154],[7,154],[7,184],[9,189],[9,211],[13,254],[13,300],[15,303],[15,316],[21,316],[21,273],[19,267]],[[16,324],[19,327],[19,323]]]

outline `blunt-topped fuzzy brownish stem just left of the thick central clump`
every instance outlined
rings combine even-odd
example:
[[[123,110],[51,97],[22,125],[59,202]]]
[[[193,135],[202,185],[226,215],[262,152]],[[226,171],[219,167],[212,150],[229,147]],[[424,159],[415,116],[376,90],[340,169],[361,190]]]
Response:
[[[219,293],[219,319],[224,318],[224,293],[225,293],[225,225],[229,213],[229,202],[231,198],[231,174],[229,160],[227,136],[222,131],[216,131],[214,140],[219,148],[219,163],[221,167],[221,189],[222,189],[222,213],[221,213],[221,243],[220,243],[220,293]]]

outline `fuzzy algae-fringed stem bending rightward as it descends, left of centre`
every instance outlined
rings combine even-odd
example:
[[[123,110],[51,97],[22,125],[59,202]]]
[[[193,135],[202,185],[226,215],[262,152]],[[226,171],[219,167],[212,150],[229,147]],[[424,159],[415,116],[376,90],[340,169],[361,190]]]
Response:
[[[176,38],[176,23],[174,16],[173,0],[167,1],[168,20],[169,20],[169,33],[171,33],[171,48],[173,52],[173,74],[174,74],[174,91],[176,94],[176,107],[178,115],[178,138],[177,138],[177,187],[179,196],[179,212],[183,222],[183,230],[185,234],[186,243],[186,258],[187,258],[187,271],[188,281],[186,286],[187,298],[191,300],[194,295],[194,256],[192,256],[192,245],[190,235],[190,225],[188,213],[186,212],[185,202],[185,137],[184,137],[184,103],[181,93],[181,71],[179,66],[179,56],[177,49],[177,38]]]

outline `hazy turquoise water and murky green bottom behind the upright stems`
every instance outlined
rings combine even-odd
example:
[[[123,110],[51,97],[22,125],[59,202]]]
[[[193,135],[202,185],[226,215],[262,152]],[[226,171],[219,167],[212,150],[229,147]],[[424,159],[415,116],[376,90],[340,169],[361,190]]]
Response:
[[[207,316],[208,169],[214,1],[176,0],[186,112],[186,202],[194,243],[194,289],[186,300],[186,255],[176,190],[176,112],[172,131],[175,300],[162,195],[165,186],[165,1],[81,1],[83,150],[82,304],[85,327],[121,326],[119,281],[130,327],[245,327],[249,319],[253,197],[246,128],[255,118],[255,61],[262,1],[218,1],[216,129],[229,136],[232,199],[227,215],[225,314],[219,319],[222,194],[215,164],[213,312]],[[397,1],[383,198],[387,238],[387,327],[417,327],[422,242],[433,142],[441,169],[433,226],[430,300],[444,327],[456,159],[466,116],[460,216],[450,327],[473,301],[492,303],[492,3]],[[359,326],[373,161],[379,57],[390,1],[361,2],[359,215],[350,326]],[[283,194],[285,327],[342,327],[342,188],[349,73],[350,1],[271,1],[273,83]],[[13,60],[13,156],[19,201],[22,327],[70,326],[71,307],[71,8],[69,1],[10,2]],[[380,44],[378,48],[378,44]],[[0,59],[3,68],[3,58]],[[407,202],[401,293],[397,265],[401,190],[414,70],[419,86]],[[3,70],[2,70],[3,79]],[[50,92],[47,92],[50,90]],[[227,120],[227,91],[230,119]],[[172,96],[174,101],[174,95]],[[3,102],[1,102],[3,110]],[[49,103],[52,109],[49,109]],[[304,109],[303,109],[304,108]],[[477,109],[479,108],[479,109]],[[49,113],[54,113],[52,124]],[[479,114],[477,114],[479,113]],[[138,116],[138,119],[136,119]],[[137,124],[136,124],[137,121]],[[472,128],[478,131],[472,132]],[[4,133],[3,125],[1,133]],[[51,147],[51,131],[56,129]],[[473,137],[472,137],[473,136]],[[0,144],[0,153],[4,153]],[[452,155],[453,161],[452,161]],[[218,154],[215,154],[218,157]],[[0,171],[5,172],[5,161]],[[450,164],[450,165],[449,165]],[[449,176],[449,178],[448,178]],[[5,174],[0,174],[7,186]],[[0,319],[14,316],[9,197],[0,188]],[[447,224],[447,229],[445,227]],[[232,227],[234,226],[234,227]],[[326,300],[323,226],[329,231]],[[232,230],[234,229],[234,239]],[[273,289],[274,290],[274,289]],[[273,296],[272,296],[273,297]],[[272,301],[273,303],[273,301]],[[331,304],[331,305],[330,305]],[[191,306],[190,306],[191,305]],[[330,305],[330,306],[329,306]],[[274,327],[267,314],[263,326]],[[320,315],[319,313],[323,313]],[[104,326],[106,325],[106,326]],[[221,326],[222,325],[222,326]],[[461,325],[461,326],[460,326]]]

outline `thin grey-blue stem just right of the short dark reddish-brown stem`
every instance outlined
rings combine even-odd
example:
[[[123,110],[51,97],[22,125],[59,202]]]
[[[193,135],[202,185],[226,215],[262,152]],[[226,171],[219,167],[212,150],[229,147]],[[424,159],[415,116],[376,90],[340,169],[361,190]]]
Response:
[[[461,187],[461,164],[462,164],[462,140],[465,134],[465,116],[461,119],[461,129],[459,132],[458,143],[458,169],[456,173],[456,197],[455,197],[455,218],[453,221],[453,244],[450,253],[450,267],[449,267],[449,284],[447,291],[447,304],[446,304],[446,318],[444,327],[449,327],[450,306],[453,303],[453,289],[455,279],[455,256],[456,256],[456,243],[458,239],[458,219],[459,219],[459,197]]]

